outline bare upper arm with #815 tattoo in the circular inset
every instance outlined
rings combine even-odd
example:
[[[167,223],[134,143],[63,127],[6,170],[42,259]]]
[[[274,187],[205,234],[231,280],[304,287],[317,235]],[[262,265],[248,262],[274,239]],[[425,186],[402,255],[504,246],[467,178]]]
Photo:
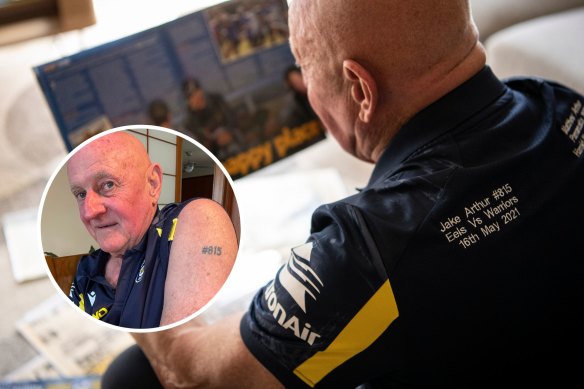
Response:
[[[187,204],[178,216],[160,325],[184,319],[215,296],[236,255],[235,230],[223,207],[207,199]]]

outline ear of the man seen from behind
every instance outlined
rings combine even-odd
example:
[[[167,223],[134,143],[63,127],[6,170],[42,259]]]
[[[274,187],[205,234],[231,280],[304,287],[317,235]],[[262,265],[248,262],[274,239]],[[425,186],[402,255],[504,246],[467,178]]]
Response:
[[[346,59],[343,61],[343,76],[351,85],[351,97],[359,106],[359,119],[369,123],[377,108],[377,83],[361,64]]]

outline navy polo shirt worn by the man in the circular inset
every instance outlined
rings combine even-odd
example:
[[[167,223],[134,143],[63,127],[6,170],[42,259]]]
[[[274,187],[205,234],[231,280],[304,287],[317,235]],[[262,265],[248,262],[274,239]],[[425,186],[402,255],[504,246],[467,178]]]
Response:
[[[160,325],[170,248],[178,215],[187,203],[157,211],[138,245],[124,254],[117,289],[105,278],[109,254],[98,249],[79,261],[69,298],[86,313],[127,328]]]

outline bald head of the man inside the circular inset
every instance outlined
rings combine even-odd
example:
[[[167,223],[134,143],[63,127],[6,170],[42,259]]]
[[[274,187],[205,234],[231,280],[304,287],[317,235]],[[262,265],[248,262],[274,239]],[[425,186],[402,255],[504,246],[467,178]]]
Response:
[[[156,213],[162,171],[136,137],[94,140],[71,157],[67,175],[81,221],[103,251],[123,255],[140,242]]]

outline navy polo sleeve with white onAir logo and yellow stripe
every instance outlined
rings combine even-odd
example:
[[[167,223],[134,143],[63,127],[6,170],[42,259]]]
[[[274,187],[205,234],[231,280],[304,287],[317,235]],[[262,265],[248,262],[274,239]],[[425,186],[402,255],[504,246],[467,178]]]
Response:
[[[313,226],[254,297],[241,335],[286,387],[354,387],[379,373],[372,346],[397,305],[359,208],[320,207]]]

